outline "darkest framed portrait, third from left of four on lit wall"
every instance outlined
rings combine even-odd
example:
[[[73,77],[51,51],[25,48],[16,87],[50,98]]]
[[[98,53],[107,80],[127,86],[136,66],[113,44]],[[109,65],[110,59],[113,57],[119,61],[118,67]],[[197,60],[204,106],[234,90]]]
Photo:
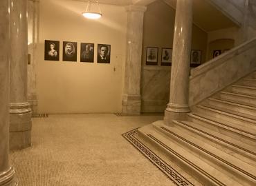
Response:
[[[94,61],[94,44],[81,43],[80,62],[93,63]]]

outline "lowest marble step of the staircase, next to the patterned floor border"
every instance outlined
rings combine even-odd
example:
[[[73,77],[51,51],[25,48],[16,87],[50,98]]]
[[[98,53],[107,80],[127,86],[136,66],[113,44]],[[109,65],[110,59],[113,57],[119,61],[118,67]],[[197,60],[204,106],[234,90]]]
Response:
[[[224,185],[235,185],[236,180],[223,174],[221,170],[216,169],[205,163],[194,154],[183,149],[180,145],[177,145],[174,139],[167,138],[163,134],[159,134],[153,129],[153,125],[147,125],[140,128],[139,136],[144,138],[145,141],[149,141],[154,146],[157,146],[161,153],[167,154],[170,157],[170,161],[175,162],[176,165],[181,167],[185,172],[190,174],[196,180],[199,180],[203,185],[208,186],[224,186]],[[237,183],[236,186],[242,186]]]

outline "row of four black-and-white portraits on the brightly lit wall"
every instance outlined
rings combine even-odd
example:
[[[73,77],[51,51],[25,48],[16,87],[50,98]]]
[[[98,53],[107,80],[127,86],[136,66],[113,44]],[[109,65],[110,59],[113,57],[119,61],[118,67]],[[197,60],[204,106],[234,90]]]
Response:
[[[97,63],[110,63],[111,45],[98,44]],[[60,61],[60,41],[45,40],[44,60]],[[77,61],[77,42],[63,41],[62,61]],[[94,43],[81,43],[80,62],[94,62]]]

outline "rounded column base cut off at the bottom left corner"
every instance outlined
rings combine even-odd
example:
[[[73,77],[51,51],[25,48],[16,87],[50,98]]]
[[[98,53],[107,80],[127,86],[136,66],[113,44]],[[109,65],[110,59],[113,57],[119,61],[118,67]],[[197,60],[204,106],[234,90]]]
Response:
[[[6,172],[0,172],[0,186],[17,186],[15,169],[10,167]]]

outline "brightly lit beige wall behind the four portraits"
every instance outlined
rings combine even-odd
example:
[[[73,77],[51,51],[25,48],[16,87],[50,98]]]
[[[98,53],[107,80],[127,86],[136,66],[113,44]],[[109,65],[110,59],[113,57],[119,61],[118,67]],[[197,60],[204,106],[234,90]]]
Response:
[[[100,4],[103,17],[82,17],[85,1],[40,1],[37,94],[41,113],[120,112],[127,12]],[[118,15],[118,16],[117,16]],[[44,40],[60,41],[60,61],[44,61]],[[77,42],[77,62],[62,61],[62,42]],[[95,43],[94,63],[80,63],[80,43]],[[111,45],[111,63],[96,63],[98,43]]]

